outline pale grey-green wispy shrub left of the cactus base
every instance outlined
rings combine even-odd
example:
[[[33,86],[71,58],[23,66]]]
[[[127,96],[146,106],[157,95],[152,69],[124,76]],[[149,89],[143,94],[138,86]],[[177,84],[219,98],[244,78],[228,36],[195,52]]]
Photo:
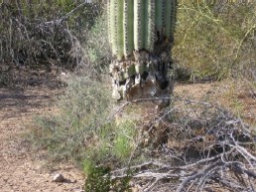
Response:
[[[34,144],[48,148],[54,159],[81,160],[87,140],[105,121],[111,106],[109,89],[86,77],[67,81],[58,98],[58,114],[40,117],[34,130]]]

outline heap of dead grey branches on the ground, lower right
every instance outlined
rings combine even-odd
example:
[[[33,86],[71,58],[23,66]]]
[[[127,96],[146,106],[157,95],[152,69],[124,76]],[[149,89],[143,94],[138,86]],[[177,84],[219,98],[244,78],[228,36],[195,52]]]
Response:
[[[253,191],[254,131],[216,105],[189,99],[176,103],[155,117],[144,134],[148,138],[141,138],[134,156],[143,153],[149,160],[113,170],[112,178],[132,172],[138,191]],[[143,140],[150,140],[150,150]]]

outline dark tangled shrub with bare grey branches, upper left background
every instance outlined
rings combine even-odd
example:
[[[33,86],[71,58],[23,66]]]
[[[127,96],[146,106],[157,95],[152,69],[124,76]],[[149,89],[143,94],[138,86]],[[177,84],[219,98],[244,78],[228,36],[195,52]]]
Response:
[[[50,74],[53,68],[90,68],[82,43],[101,13],[99,4],[69,0],[0,4],[0,63],[5,68],[0,82],[8,84],[6,78],[16,78],[16,70]]]

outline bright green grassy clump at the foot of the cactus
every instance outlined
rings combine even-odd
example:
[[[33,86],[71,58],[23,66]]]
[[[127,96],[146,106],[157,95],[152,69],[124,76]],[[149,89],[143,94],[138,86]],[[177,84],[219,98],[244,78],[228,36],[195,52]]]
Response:
[[[136,143],[136,124],[124,120],[120,124],[111,122],[97,130],[94,138],[87,143],[83,163],[85,174],[90,165],[122,166],[127,164]]]

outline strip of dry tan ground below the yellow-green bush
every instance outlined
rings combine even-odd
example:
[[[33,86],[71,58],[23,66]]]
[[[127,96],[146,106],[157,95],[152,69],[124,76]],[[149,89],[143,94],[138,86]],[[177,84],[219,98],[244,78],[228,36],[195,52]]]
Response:
[[[252,128],[256,127],[256,89],[251,82],[206,82],[179,84],[175,94],[181,98],[206,101],[228,109],[240,116]]]

